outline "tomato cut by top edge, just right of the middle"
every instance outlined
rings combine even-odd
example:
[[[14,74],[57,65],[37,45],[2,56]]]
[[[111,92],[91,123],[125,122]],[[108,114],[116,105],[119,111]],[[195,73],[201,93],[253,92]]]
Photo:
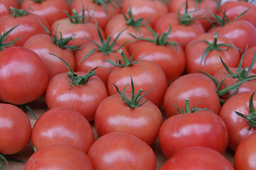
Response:
[[[150,0],[124,0],[122,1],[122,11],[127,13],[132,9],[134,17],[144,18],[144,22],[149,22],[154,26],[158,18],[168,13],[168,7],[162,1]]]

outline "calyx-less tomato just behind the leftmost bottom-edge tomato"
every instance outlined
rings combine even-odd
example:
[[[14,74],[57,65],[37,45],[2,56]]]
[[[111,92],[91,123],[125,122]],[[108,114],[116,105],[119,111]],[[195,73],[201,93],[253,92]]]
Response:
[[[73,145],[87,153],[95,137],[90,123],[72,108],[53,108],[33,125],[31,142],[41,149],[49,145]]]

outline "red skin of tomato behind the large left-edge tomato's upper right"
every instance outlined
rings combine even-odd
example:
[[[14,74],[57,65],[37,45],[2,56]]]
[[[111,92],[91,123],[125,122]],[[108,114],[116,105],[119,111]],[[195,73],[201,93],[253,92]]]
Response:
[[[41,43],[44,42],[44,43]],[[44,64],[48,69],[49,79],[51,79],[56,74],[63,72],[68,72],[68,67],[62,62],[58,57],[65,60],[68,63],[71,69],[75,70],[75,56],[73,52],[69,49],[62,49],[54,44],[53,38],[47,34],[36,34],[31,38],[26,40],[23,44],[23,47],[27,47],[30,50],[33,50],[41,57]],[[57,55],[55,57],[50,55],[50,53]]]

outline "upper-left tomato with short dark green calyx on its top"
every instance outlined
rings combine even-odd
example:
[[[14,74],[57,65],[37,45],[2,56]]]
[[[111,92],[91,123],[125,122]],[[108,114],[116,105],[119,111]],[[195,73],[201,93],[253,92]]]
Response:
[[[17,26],[11,33],[9,33],[9,38],[11,40],[16,40],[17,38],[21,38],[20,40],[15,42],[15,45],[23,45],[23,43],[28,40],[32,35],[37,33],[46,33],[43,26],[47,29],[48,26],[47,21],[34,13],[28,13],[22,9],[10,8],[11,12],[6,14],[0,18],[0,22],[4,23],[0,25],[0,30],[7,32],[14,26]],[[41,23],[43,26],[41,26]]]

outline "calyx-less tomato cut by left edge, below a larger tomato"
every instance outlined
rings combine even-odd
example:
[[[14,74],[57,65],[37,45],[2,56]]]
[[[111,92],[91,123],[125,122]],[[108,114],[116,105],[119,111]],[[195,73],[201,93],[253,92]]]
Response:
[[[31,140],[31,123],[20,108],[0,103],[0,125],[1,154],[16,154],[27,147]]]

